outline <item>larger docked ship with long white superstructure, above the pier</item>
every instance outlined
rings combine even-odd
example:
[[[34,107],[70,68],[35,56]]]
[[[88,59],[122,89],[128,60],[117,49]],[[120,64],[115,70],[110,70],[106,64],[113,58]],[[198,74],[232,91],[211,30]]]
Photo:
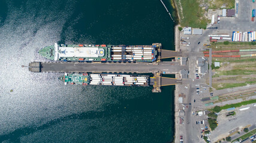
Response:
[[[161,43],[152,45],[58,45],[40,49],[39,54],[54,61],[153,62]]]

